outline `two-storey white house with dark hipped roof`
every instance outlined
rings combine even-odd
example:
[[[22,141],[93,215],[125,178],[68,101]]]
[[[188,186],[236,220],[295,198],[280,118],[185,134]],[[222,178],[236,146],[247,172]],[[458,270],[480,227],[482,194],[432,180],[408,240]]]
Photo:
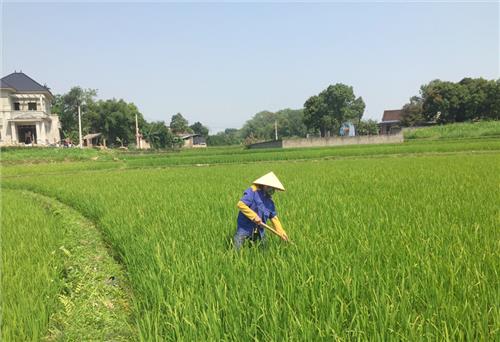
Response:
[[[0,79],[0,145],[50,145],[60,140],[50,90],[22,72]]]

